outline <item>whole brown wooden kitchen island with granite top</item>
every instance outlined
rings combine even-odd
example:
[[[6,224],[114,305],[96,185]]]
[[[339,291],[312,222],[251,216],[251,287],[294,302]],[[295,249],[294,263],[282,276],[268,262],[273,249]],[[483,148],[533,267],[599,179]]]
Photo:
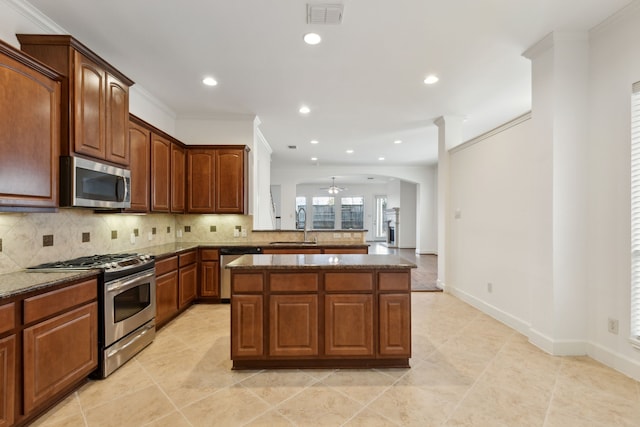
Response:
[[[234,369],[409,367],[415,264],[394,255],[244,255],[227,268]]]

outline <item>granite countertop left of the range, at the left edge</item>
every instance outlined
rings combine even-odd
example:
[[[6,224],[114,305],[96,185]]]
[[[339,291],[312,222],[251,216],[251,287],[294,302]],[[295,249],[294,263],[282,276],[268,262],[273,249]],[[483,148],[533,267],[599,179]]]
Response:
[[[0,274],[0,299],[97,276],[99,273],[99,270],[78,270],[61,273],[38,273],[20,270],[13,273]]]

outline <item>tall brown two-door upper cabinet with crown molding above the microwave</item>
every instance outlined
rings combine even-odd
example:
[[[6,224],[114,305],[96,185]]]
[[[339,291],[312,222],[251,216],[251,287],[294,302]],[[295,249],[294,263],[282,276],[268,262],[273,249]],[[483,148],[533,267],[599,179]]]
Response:
[[[133,81],[68,35],[17,34],[24,52],[60,72],[62,155],[78,153],[128,166],[129,87]]]

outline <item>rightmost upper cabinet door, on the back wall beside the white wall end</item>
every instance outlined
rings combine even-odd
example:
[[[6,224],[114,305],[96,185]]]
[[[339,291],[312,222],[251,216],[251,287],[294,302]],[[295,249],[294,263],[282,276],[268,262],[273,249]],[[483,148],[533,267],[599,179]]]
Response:
[[[216,213],[245,213],[244,155],[243,149],[216,149]]]

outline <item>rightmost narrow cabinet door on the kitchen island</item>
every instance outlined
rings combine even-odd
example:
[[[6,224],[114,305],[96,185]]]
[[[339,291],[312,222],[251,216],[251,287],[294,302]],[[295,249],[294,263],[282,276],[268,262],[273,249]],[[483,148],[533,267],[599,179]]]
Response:
[[[411,299],[404,294],[381,294],[380,356],[411,357]]]

